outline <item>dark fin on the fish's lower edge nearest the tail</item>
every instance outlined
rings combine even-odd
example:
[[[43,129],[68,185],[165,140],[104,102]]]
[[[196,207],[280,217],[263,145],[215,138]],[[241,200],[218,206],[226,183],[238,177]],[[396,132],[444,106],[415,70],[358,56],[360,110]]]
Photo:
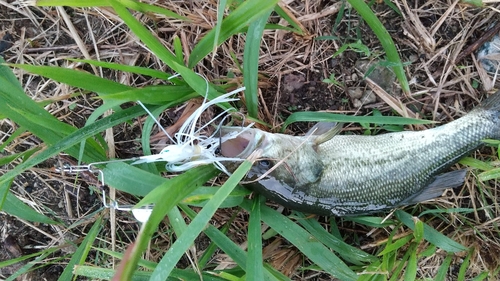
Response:
[[[439,175],[429,186],[424,188],[422,192],[403,200],[399,205],[412,205],[439,197],[443,194],[445,189],[462,185],[466,173],[467,170],[462,169]]]

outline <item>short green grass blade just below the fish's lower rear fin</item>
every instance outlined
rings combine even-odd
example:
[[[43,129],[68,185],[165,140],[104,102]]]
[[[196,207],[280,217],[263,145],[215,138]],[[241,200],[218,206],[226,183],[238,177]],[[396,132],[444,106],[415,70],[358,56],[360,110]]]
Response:
[[[412,219],[412,216],[402,210],[396,210],[395,213],[396,217],[404,223],[407,227],[410,229],[414,230],[415,229],[415,222]],[[424,238],[425,240],[429,241],[430,243],[436,245],[437,247],[448,251],[452,253],[460,252],[460,251],[465,251],[467,250],[466,247],[460,245],[459,243],[453,241],[452,239],[446,237],[445,235],[441,234],[434,228],[430,227],[429,225],[423,223],[424,225]]]

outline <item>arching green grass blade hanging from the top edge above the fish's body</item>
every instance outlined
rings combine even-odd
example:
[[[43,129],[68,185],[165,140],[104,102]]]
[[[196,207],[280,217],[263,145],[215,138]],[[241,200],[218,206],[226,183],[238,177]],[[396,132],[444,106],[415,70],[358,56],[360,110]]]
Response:
[[[368,5],[363,0],[347,0],[351,6],[356,9],[356,11],[361,15],[361,17],[366,21],[366,23],[373,30],[373,33],[377,36],[378,40],[382,44],[382,47],[385,50],[387,60],[391,63],[394,63],[392,69],[398,78],[399,83],[401,84],[401,88],[403,92],[410,93],[410,86],[408,85],[408,80],[406,79],[406,73],[403,68],[403,63],[401,62],[401,58],[399,57],[398,50],[392,40],[389,32],[385,29],[384,25],[377,16],[373,13],[373,11],[368,7]]]

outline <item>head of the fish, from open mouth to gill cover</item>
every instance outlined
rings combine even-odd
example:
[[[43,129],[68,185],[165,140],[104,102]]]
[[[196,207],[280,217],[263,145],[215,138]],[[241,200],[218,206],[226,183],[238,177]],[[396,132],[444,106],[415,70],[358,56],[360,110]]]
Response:
[[[305,186],[316,182],[323,172],[314,137],[273,134],[241,127],[222,127],[221,135],[220,151],[224,157],[246,159],[260,150],[260,158],[248,173],[247,180],[265,175],[283,184]]]

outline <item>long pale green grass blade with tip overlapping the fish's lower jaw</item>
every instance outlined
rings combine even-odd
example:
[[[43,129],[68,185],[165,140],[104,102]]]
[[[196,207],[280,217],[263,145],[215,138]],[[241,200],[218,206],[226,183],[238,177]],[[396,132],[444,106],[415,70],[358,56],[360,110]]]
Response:
[[[152,280],[164,280],[170,275],[172,269],[176,266],[182,255],[184,255],[184,252],[186,252],[189,246],[194,242],[194,239],[196,239],[196,237],[208,224],[220,204],[231,193],[240,180],[243,179],[251,167],[252,162],[248,160],[244,161],[233,173],[233,175],[229,177],[224,185],[222,185],[222,187],[217,191],[215,197],[212,198],[207,205],[205,205],[200,213],[189,224],[184,234],[181,237],[178,237],[175,243],[165,253],[165,256],[161,259],[151,276]]]

